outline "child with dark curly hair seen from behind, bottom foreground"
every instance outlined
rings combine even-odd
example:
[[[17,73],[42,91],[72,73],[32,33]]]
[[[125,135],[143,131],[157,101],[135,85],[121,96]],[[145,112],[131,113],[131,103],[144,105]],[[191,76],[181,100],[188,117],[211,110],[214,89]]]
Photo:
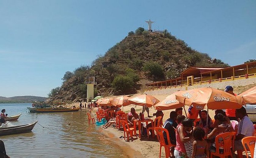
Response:
[[[196,127],[193,133],[193,151],[192,157],[194,158],[206,158],[209,157],[208,143],[204,140],[205,132],[200,126]]]

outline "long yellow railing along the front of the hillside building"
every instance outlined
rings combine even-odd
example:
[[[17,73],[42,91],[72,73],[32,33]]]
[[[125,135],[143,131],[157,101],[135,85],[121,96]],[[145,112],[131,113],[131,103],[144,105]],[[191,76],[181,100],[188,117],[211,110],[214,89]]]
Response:
[[[240,76],[231,76],[231,77],[226,77],[226,78],[219,78],[219,79],[214,79],[214,80],[208,80],[208,81],[199,81],[199,82],[194,82],[193,84],[178,84],[178,85],[173,85],[173,86],[158,86],[156,88],[150,88],[146,89],[145,91],[157,91],[157,90],[162,90],[162,89],[171,89],[171,88],[182,88],[182,87],[188,87],[191,85],[202,85],[202,84],[209,84],[209,83],[218,83],[218,82],[225,82],[225,81],[234,81],[234,80],[242,80],[246,78],[254,78],[256,77],[255,74],[245,74],[245,75],[240,75]]]

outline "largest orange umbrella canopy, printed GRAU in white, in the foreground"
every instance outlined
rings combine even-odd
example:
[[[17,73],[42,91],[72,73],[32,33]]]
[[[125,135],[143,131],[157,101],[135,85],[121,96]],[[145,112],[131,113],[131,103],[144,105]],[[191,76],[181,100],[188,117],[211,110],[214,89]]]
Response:
[[[242,107],[242,98],[214,88],[197,88],[176,94],[176,99],[184,105],[195,105],[202,110],[205,105],[209,109],[238,109]]]

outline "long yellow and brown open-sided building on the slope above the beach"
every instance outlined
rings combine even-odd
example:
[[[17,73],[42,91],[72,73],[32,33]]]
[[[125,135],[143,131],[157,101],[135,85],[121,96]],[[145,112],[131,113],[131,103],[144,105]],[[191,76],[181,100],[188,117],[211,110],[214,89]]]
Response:
[[[168,88],[185,88],[225,81],[256,79],[256,61],[232,67],[189,67],[180,77],[146,84],[145,91]]]

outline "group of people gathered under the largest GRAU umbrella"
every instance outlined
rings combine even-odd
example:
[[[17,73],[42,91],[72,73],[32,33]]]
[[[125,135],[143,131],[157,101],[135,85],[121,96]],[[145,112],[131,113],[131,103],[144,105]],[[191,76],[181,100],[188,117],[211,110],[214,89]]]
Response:
[[[177,109],[176,109],[177,110]],[[201,111],[200,120],[194,123],[192,119],[186,119],[184,115],[177,115],[176,112],[170,112],[170,118],[164,123],[164,128],[169,132],[169,139],[175,149],[170,150],[176,158],[209,157],[210,152],[216,152],[215,137],[225,132],[236,132],[234,151],[244,150],[241,140],[247,136],[253,136],[254,125],[247,116],[244,107],[235,110],[236,118],[240,122],[230,120],[223,110],[215,111],[215,122],[209,117],[208,126],[206,126],[207,112]],[[177,125],[178,124],[178,125]],[[195,126],[194,126],[195,124]],[[175,127],[176,126],[176,127]],[[237,131],[236,131],[237,129]],[[176,132],[175,132],[176,131]],[[165,143],[168,144],[166,134],[164,133]],[[219,139],[219,153],[223,153],[223,139]],[[230,146],[232,147],[232,146]],[[192,151],[192,152],[191,152]]]

